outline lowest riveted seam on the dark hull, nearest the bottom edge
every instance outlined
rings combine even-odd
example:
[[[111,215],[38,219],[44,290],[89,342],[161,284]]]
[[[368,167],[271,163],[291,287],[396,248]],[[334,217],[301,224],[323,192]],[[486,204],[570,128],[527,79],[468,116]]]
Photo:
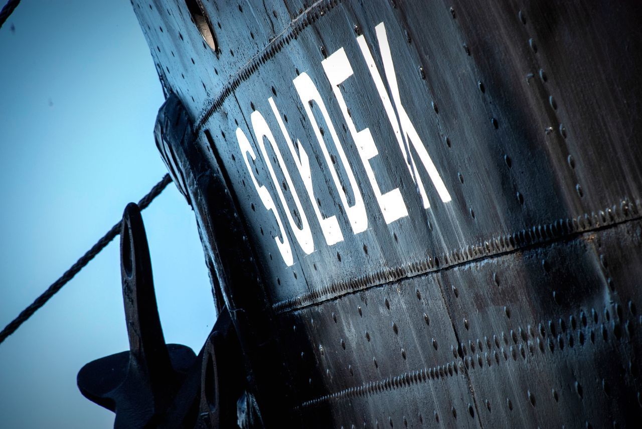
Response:
[[[606,308],[606,306],[604,308]],[[582,322],[580,321],[580,323]],[[631,330],[629,330],[629,323],[635,323],[635,321],[631,322],[629,319],[620,320],[618,318],[618,325],[627,327],[626,332],[628,334],[628,337],[630,338],[634,334],[632,333]],[[612,320],[611,325],[615,326],[615,324],[616,324],[615,320]],[[571,328],[568,330],[568,335],[564,335],[564,338],[566,339],[566,341],[569,341],[569,337],[575,335],[576,332],[582,332],[582,334],[584,334],[586,337],[584,339],[584,342],[580,342],[580,340],[578,339],[578,344],[577,344],[578,347],[584,347],[586,346],[586,344],[588,344],[588,346],[594,347],[596,342],[591,340],[589,335],[590,335],[590,332],[595,332],[594,329],[597,329],[600,327],[604,329],[605,328],[604,323],[600,324],[600,323],[594,322],[594,323],[591,323],[591,325],[584,325],[578,329]],[[521,326],[518,328],[521,328]],[[564,334],[566,334],[566,332],[564,332]],[[598,334],[600,334],[600,332],[598,332]],[[560,336],[562,336],[562,334],[559,334],[557,336],[558,347],[559,347]],[[448,378],[448,377],[455,377],[460,374],[465,375],[467,373],[471,373],[473,370],[479,371],[479,370],[487,369],[493,366],[492,364],[493,360],[495,361],[495,365],[501,364],[501,359],[499,358],[498,353],[501,353],[501,356],[504,358],[503,362],[510,362],[510,359],[509,359],[510,357],[513,358],[513,362],[517,362],[517,357],[519,355],[521,355],[522,360],[526,360],[526,357],[530,357],[530,360],[536,359],[536,357],[539,355],[542,355],[542,356],[545,355],[547,348],[550,350],[550,353],[555,353],[554,352],[555,337],[556,336],[553,335],[552,333],[545,334],[544,336],[542,336],[541,334],[532,335],[530,333],[527,333],[526,339],[523,339],[522,337],[518,337],[519,339],[518,341],[513,340],[514,344],[504,343],[504,345],[500,345],[498,347],[496,344],[491,343],[490,348],[487,348],[488,351],[483,352],[485,353],[486,356],[485,356],[485,359],[482,359],[482,362],[485,360],[486,364],[483,364],[483,363],[481,365],[477,364],[477,367],[475,366],[476,364],[475,364],[475,359],[473,359],[473,355],[479,361],[482,358],[482,355],[480,355],[480,353],[465,352],[463,353],[464,355],[462,356],[462,352],[458,352],[458,357],[456,357],[455,360],[451,360],[450,362],[447,362],[446,364],[443,364],[441,366],[416,369],[415,371],[412,371],[410,373],[406,372],[397,376],[388,376],[380,380],[363,383],[359,386],[348,387],[346,389],[342,389],[334,393],[326,394],[324,396],[318,396],[317,398],[314,398],[312,400],[302,402],[300,405],[295,407],[295,410],[313,407],[314,405],[318,405],[319,403],[330,401],[330,400],[354,398],[355,396],[361,396],[361,397],[371,396],[374,394],[383,393],[384,391],[391,391],[395,389],[401,389],[403,387],[410,387],[411,385],[415,385],[415,384],[430,382],[431,380],[439,380],[439,379]],[[618,341],[621,341],[622,337],[623,337],[623,334],[620,337],[620,339],[618,339]],[[535,339],[537,339],[537,346],[535,346],[536,344]],[[604,341],[608,341],[608,339],[605,339]],[[471,342],[472,340],[469,341],[469,343]],[[507,348],[508,346],[510,346],[510,348],[508,349],[510,350],[509,353],[507,353],[504,346],[506,346]],[[566,344],[565,346],[560,347],[560,351],[562,353],[564,353],[563,349],[565,347],[568,347],[572,350],[575,346],[569,346],[568,344]],[[517,349],[519,349],[519,351],[517,351]],[[538,349],[539,349],[539,353],[537,352]],[[459,346],[457,346],[455,350],[460,350]],[[493,353],[492,359],[490,359],[490,357],[488,356],[488,354],[490,353],[490,350],[492,350],[492,353]],[[526,354],[526,350],[528,350],[528,354]]]

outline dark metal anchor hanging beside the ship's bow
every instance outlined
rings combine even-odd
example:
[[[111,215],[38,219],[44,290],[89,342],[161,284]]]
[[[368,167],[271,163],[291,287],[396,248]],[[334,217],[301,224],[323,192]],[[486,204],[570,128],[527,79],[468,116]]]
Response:
[[[238,418],[241,427],[259,427],[227,308],[198,356],[165,343],[143,218],[134,203],[121,222],[121,276],[130,350],[83,366],[80,392],[116,413],[116,429],[228,428]]]

